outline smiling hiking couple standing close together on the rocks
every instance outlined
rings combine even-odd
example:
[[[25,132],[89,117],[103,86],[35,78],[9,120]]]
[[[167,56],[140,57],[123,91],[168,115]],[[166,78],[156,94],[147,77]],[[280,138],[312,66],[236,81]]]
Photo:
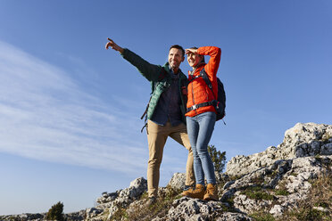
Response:
[[[216,75],[220,64],[220,48],[192,47],[185,51],[180,45],[172,45],[168,62],[161,66],[145,61],[129,49],[115,44],[110,38],[108,40],[106,49],[111,47],[118,51],[152,84],[153,93],[147,109],[146,128],[149,145],[148,205],[156,201],[162,151],[168,136],[189,151],[186,186],[182,195],[206,201],[218,201],[216,178],[207,145],[216,121],[216,110],[211,102],[214,100],[213,94],[218,94]],[[188,79],[179,69],[180,63],[185,60],[185,53],[189,65],[193,68],[188,73]],[[208,63],[205,63],[204,55],[211,56]],[[203,69],[212,82],[213,94],[203,78],[195,78]]]

